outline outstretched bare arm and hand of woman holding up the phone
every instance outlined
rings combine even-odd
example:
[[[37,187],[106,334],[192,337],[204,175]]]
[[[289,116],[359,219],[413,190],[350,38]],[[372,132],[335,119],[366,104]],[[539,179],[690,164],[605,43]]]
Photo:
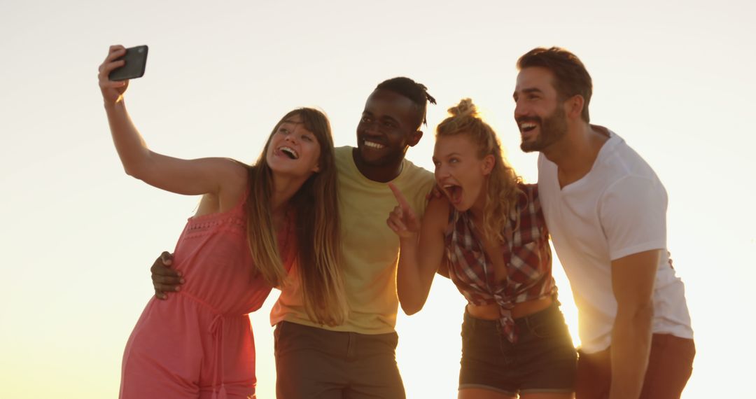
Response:
[[[114,82],[108,78],[112,70],[123,65],[124,61],[116,60],[123,54],[123,46],[110,46],[98,78],[110,133],[125,172],[154,187],[186,195],[220,193],[227,185],[237,189],[243,184],[246,169],[231,159],[177,159],[147,147],[126,111],[124,94],[129,81]]]

